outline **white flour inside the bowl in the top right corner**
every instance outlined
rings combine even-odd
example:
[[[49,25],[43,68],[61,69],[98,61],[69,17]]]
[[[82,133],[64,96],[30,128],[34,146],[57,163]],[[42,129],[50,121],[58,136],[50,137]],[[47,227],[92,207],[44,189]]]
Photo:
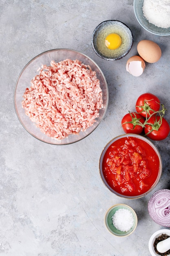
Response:
[[[145,18],[157,27],[170,27],[170,0],[144,0]]]

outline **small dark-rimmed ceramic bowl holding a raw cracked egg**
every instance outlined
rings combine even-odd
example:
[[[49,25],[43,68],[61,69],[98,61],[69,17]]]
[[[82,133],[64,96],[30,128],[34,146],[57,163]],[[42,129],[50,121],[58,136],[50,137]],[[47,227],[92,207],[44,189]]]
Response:
[[[95,28],[91,42],[99,57],[108,61],[119,60],[126,56],[132,47],[132,31],[119,20],[106,20]]]

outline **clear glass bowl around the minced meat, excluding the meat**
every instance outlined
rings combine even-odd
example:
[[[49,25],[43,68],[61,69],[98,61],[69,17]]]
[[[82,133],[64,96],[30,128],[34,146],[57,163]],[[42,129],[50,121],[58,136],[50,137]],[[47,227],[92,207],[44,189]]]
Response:
[[[30,88],[31,80],[36,75],[39,74],[38,69],[40,69],[42,64],[49,66],[51,61],[60,62],[68,58],[71,60],[77,59],[79,61],[82,61],[84,65],[90,65],[92,70],[96,72],[97,79],[99,79],[100,87],[102,89],[103,108],[99,110],[99,117],[96,118],[96,122],[91,127],[86,129],[86,131],[80,131],[79,134],[76,134],[76,135],[71,134],[66,138],[57,140],[41,132],[40,129],[37,128],[35,124],[31,121],[31,119],[28,116],[26,116],[25,110],[24,108],[22,108],[22,101],[24,99],[23,95],[26,88]],[[102,70],[91,58],[89,58],[85,54],[82,54],[80,52],[77,52],[71,49],[52,49],[39,54],[38,56],[33,58],[31,61],[29,61],[29,63],[27,63],[26,66],[23,68],[22,72],[18,76],[16,85],[15,85],[14,105],[15,105],[16,114],[22,126],[33,137],[35,137],[36,139],[39,139],[40,141],[44,141],[46,143],[54,144],[54,145],[71,144],[81,139],[84,139],[86,136],[91,134],[91,132],[93,132],[102,121],[108,106],[108,85]]]

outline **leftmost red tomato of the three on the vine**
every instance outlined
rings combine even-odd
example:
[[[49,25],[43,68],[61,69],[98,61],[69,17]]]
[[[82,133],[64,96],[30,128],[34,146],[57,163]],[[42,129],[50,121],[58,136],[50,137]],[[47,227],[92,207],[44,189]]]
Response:
[[[121,126],[126,133],[134,133],[134,134],[140,134],[144,128],[139,124],[144,124],[144,117],[139,115],[138,113],[132,112],[126,114],[122,120],[121,120]]]

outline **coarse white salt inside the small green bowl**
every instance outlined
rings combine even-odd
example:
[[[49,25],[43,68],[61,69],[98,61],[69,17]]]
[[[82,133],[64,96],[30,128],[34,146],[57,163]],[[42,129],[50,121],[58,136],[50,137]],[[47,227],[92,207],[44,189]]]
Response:
[[[127,232],[134,224],[134,217],[128,209],[120,208],[112,216],[112,222],[116,229]]]

